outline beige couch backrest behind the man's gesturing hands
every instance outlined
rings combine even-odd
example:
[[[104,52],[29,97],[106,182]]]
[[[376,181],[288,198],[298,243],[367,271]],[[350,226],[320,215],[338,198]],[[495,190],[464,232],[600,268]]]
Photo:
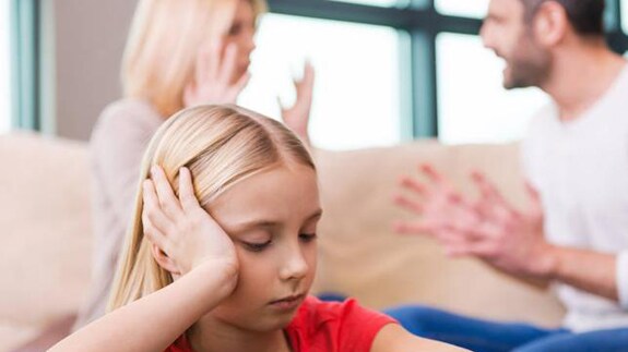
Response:
[[[518,206],[525,205],[518,145],[443,146],[434,141],[389,148],[317,153],[323,202],[317,291],[340,291],[365,305],[423,303],[487,318],[557,325],[562,307],[545,289],[474,259],[447,258],[424,236],[401,236],[393,220],[412,215],[392,203],[402,174],[430,162],[473,195],[482,170]]]

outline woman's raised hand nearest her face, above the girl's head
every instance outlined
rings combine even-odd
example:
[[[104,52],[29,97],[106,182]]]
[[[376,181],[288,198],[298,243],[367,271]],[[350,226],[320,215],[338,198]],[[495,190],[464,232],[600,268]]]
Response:
[[[183,90],[186,108],[203,104],[235,104],[249,82],[250,74],[247,71],[235,77],[237,46],[229,44],[224,48],[223,43],[224,40],[218,39],[209,49],[199,50],[193,80]]]

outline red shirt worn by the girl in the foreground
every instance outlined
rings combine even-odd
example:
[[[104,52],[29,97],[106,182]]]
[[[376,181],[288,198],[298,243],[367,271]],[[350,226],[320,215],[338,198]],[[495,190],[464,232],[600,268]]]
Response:
[[[395,320],[355,300],[321,302],[308,296],[286,327],[295,352],[368,352],[379,330]],[[193,352],[186,336],[165,352]]]

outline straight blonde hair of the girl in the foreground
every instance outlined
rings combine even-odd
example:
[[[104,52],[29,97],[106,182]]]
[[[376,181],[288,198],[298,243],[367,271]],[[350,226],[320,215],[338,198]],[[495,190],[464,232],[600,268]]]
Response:
[[[144,155],[140,181],[149,178],[152,166],[161,166],[178,195],[178,172],[187,167],[194,193],[208,209],[239,181],[291,162],[315,169],[304,144],[282,123],[236,106],[199,106],[178,112],[159,128]],[[142,209],[139,186],[109,311],[173,282],[170,272],[153,258],[151,243],[144,238]]]

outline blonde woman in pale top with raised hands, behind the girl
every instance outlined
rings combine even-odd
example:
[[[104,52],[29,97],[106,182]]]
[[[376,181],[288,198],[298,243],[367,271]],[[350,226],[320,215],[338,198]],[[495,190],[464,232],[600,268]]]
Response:
[[[233,104],[248,82],[263,0],[140,0],[125,50],[125,97],[94,129],[93,286],[75,327],[105,313],[129,226],[138,166],[151,136],[173,113],[200,104]],[[307,141],[313,71],[295,83],[297,102],[283,118]]]

